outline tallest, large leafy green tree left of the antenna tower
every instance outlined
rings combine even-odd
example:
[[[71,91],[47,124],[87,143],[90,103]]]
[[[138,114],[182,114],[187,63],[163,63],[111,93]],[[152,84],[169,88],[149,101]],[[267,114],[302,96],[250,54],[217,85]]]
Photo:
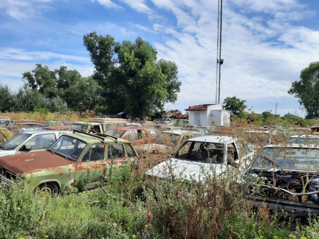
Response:
[[[92,32],[84,36],[84,45],[110,113],[128,109],[130,115],[144,118],[177,100],[181,82],[176,64],[157,61],[158,52],[142,38],[120,44],[109,35]]]

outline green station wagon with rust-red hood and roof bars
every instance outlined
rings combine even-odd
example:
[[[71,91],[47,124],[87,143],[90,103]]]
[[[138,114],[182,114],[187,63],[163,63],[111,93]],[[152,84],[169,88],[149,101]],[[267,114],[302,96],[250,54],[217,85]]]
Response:
[[[107,180],[108,169],[138,155],[125,139],[74,131],[63,134],[47,150],[0,157],[0,180],[14,184],[31,179],[40,191],[58,193],[85,181],[85,189]]]

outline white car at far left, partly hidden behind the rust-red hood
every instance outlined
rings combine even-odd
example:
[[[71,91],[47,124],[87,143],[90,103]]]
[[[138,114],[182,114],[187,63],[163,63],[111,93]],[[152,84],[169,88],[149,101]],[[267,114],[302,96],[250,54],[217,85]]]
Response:
[[[0,144],[0,157],[45,150],[64,133],[70,131],[46,130],[28,131],[14,135]]]

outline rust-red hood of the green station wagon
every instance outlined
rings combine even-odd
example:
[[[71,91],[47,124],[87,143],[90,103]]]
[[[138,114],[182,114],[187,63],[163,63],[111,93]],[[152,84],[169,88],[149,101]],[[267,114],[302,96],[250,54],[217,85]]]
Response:
[[[53,154],[48,150],[0,157],[0,166],[14,174],[31,173],[43,168],[67,165],[73,162],[71,159]]]

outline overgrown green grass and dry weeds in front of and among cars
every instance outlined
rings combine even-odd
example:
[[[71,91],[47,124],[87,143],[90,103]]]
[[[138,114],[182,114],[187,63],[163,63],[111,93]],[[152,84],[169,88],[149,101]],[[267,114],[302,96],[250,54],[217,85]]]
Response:
[[[80,119],[77,114],[56,115],[41,109],[1,115],[11,119]],[[238,119],[231,127],[215,130],[247,139],[245,131],[258,126]],[[288,129],[281,126],[283,131]],[[32,181],[14,187],[0,183],[0,238],[317,238],[318,218],[310,217],[305,224],[286,212],[272,215],[266,209],[253,210],[243,197],[247,188],[237,185],[231,176],[235,171],[228,177],[209,177],[206,182],[190,184],[145,176],[166,157],[165,152],[142,154],[132,165],[110,171],[103,187],[91,191],[73,188],[72,193],[63,191],[53,197],[34,191]]]

